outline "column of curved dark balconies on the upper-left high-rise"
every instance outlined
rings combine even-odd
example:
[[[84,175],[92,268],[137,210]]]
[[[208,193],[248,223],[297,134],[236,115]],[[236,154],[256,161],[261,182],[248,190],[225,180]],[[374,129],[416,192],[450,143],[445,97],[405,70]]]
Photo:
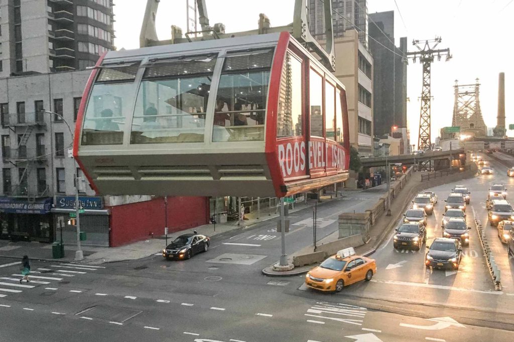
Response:
[[[48,23],[51,25],[48,34],[53,44],[50,48],[53,71],[75,70],[73,3],[69,0],[52,0],[51,3],[51,8],[48,8]]]

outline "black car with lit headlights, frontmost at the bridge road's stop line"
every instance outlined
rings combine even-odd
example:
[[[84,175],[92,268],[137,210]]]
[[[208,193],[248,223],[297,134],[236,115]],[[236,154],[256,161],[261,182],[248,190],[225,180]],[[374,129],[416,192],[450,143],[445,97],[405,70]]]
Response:
[[[427,248],[426,267],[458,270],[462,258],[462,245],[459,240],[436,238]]]

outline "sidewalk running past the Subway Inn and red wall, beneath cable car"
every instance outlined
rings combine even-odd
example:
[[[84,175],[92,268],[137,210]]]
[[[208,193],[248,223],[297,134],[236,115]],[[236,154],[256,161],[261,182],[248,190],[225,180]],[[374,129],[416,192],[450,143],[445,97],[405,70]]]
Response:
[[[349,190],[349,191],[339,191],[338,197],[336,197],[335,193],[326,194],[325,196],[321,196],[320,202],[330,202],[342,197],[345,197],[345,193],[355,194],[359,191]],[[297,212],[300,210],[304,210],[305,208],[310,208],[314,206],[315,200],[308,199],[307,204],[305,201],[301,203],[295,203],[295,208],[289,210],[289,213]],[[241,222],[241,225],[237,225],[237,221],[229,221],[227,223],[217,223],[217,224],[204,224],[195,228],[174,232],[168,234],[168,243],[170,243],[174,238],[178,235],[193,233],[193,231],[197,231],[198,234],[203,234],[207,236],[215,236],[219,234],[223,234],[229,231],[233,231],[236,229],[246,229],[256,223],[267,221],[271,219],[275,219],[279,217],[279,214],[275,214],[275,210],[271,211],[268,208],[263,208],[261,211],[261,215],[259,219],[257,218],[256,211],[250,214],[245,214],[245,217],[248,220],[244,220]],[[84,259],[80,261],[84,264],[100,264],[104,262],[116,262],[116,261],[125,261],[125,260],[134,260],[149,257],[154,254],[160,253],[160,251],[166,246],[166,236],[157,236],[152,239],[143,240],[134,242],[131,244],[127,244],[120,247],[90,247],[83,246],[82,251],[84,254]],[[77,246],[75,245],[65,245],[64,246],[64,258],[61,259],[52,259],[52,245],[47,243],[40,242],[10,242],[8,240],[0,240],[0,257],[6,258],[22,258],[23,255],[28,255],[31,259],[35,260],[51,260],[51,261],[59,261],[59,262],[75,262],[75,252],[77,251]]]

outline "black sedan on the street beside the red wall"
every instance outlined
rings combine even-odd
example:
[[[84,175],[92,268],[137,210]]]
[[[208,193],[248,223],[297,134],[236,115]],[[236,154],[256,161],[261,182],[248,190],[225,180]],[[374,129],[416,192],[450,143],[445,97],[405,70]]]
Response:
[[[193,255],[209,250],[210,239],[201,234],[184,234],[177,237],[162,250],[162,257],[171,259],[190,259]]]

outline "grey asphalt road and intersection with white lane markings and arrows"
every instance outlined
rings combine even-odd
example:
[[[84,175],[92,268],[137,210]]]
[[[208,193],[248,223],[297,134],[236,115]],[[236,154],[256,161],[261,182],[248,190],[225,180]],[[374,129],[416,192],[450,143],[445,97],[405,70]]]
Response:
[[[489,183],[512,181],[498,172],[458,184],[470,188],[471,205],[486,222],[482,202]],[[440,202],[429,219],[428,243],[442,233],[443,199],[452,185],[433,189]],[[321,204],[318,239],[337,229],[339,212],[367,207],[377,195],[374,191]],[[293,213],[290,219],[288,253],[313,239],[310,210]],[[471,219],[469,207],[470,224]],[[0,259],[0,340],[514,340],[513,261],[506,258],[501,242],[495,243],[499,240],[494,240],[492,228],[487,227],[488,237],[502,268],[501,292],[493,291],[472,229],[457,273],[427,272],[424,250],[395,251],[389,239],[372,256],[378,272],[371,282],[325,294],[305,289],[304,276],[261,274],[280,256],[274,224],[262,222],[215,236],[207,253],[186,261],[156,255],[101,267],[33,262],[32,281],[21,286],[19,265]]]

